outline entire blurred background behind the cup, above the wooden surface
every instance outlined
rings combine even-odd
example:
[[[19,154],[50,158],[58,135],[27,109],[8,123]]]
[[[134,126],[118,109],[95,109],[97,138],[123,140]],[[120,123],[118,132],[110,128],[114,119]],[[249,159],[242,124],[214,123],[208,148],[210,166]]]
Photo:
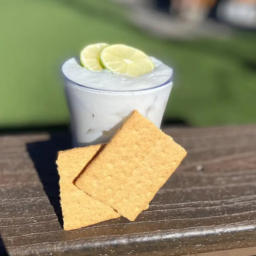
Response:
[[[165,123],[256,123],[255,0],[0,0],[0,129],[67,125],[62,63],[123,43],[174,68]]]

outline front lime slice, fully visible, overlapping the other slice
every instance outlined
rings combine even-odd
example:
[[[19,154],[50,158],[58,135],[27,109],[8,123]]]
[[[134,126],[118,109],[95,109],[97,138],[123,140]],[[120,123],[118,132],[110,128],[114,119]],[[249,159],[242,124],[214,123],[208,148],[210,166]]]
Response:
[[[155,67],[151,59],[142,51],[126,45],[111,45],[100,53],[100,64],[113,73],[140,76]]]

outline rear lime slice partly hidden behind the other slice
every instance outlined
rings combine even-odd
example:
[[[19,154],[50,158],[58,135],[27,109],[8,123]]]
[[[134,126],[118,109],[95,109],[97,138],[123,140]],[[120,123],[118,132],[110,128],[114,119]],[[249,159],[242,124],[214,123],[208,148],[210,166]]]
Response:
[[[93,70],[100,71],[102,67],[99,63],[99,54],[103,48],[108,46],[108,44],[93,44],[88,45],[80,53],[80,61],[83,67]]]

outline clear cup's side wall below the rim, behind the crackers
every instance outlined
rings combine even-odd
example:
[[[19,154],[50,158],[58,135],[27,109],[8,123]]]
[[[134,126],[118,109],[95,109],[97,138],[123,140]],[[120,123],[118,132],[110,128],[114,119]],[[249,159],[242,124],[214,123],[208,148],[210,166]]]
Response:
[[[172,85],[170,78],[149,89],[109,91],[65,77],[73,147],[108,142],[135,109],[160,128]]]

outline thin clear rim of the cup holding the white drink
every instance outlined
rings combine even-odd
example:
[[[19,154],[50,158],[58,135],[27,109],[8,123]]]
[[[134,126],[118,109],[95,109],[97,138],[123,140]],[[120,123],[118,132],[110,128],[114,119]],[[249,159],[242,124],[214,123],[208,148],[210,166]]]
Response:
[[[65,62],[66,62],[66,61],[65,61]],[[64,63],[65,63],[65,62],[64,62]],[[93,91],[108,92],[108,93],[145,92],[145,91],[150,91],[150,90],[153,90],[153,89],[157,89],[157,88],[159,88],[159,87],[162,87],[162,86],[165,86],[165,85],[167,85],[167,84],[169,84],[169,83],[172,83],[173,69],[171,68],[171,69],[172,69],[171,77],[170,77],[166,82],[164,82],[164,83],[162,83],[162,84],[159,84],[159,85],[156,85],[156,86],[154,86],[154,87],[149,87],[149,88],[146,88],[146,89],[138,89],[138,90],[125,90],[125,91],[98,89],[98,88],[93,88],[93,87],[89,87],[89,86],[85,86],[85,85],[79,84],[79,83],[77,83],[77,82],[75,82],[75,81],[69,79],[69,78],[64,74],[64,72],[63,72],[63,70],[62,70],[62,67],[63,67],[64,63],[63,63],[62,66],[61,66],[61,73],[62,73],[62,75],[64,76],[64,78],[65,78],[66,80],[71,81],[71,82],[75,83],[76,85],[78,85],[78,86],[80,86],[80,87],[82,87],[82,88],[90,89],[90,90],[93,90]]]

